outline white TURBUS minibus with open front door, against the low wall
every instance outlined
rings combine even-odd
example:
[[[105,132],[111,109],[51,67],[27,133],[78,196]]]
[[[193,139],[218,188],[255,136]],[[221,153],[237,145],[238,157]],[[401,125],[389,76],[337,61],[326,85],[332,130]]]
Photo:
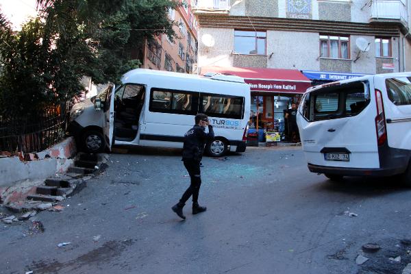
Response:
[[[182,148],[197,113],[209,116],[215,138],[212,156],[245,151],[250,88],[229,75],[199,76],[148,69],[123,75],[71,110],[69,132],[82,149],[96,153],[112,145]]]

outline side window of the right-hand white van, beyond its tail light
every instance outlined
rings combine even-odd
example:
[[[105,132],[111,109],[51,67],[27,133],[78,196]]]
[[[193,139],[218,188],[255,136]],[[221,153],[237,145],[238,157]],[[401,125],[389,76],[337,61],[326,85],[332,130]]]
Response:
[[[411,77],[386,79],[388,98],[395,105],[411,105]]]

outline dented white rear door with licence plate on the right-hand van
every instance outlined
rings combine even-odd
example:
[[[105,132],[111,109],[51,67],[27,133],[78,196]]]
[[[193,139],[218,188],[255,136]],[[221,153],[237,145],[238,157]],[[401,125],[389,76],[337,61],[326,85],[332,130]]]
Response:
[[[297,123],[309,164],[379,168],[370,80],[336,82],[304,95]]]

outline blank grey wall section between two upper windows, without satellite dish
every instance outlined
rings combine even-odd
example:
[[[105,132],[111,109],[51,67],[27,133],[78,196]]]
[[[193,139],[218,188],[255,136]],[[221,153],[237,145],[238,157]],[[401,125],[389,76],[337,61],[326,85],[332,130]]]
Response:
[[[269,68],[318,71],[319,34],[268,31],[267,55],[270,56],[271,53],[273,55],[267,64]]]

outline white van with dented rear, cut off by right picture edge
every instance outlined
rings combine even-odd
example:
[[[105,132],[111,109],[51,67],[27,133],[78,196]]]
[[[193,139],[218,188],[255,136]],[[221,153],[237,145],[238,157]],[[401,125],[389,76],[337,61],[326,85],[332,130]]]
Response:
[[[411,184],[411,73],[314,86],[297,124],[311,172],[332,180],[400,175]]]

